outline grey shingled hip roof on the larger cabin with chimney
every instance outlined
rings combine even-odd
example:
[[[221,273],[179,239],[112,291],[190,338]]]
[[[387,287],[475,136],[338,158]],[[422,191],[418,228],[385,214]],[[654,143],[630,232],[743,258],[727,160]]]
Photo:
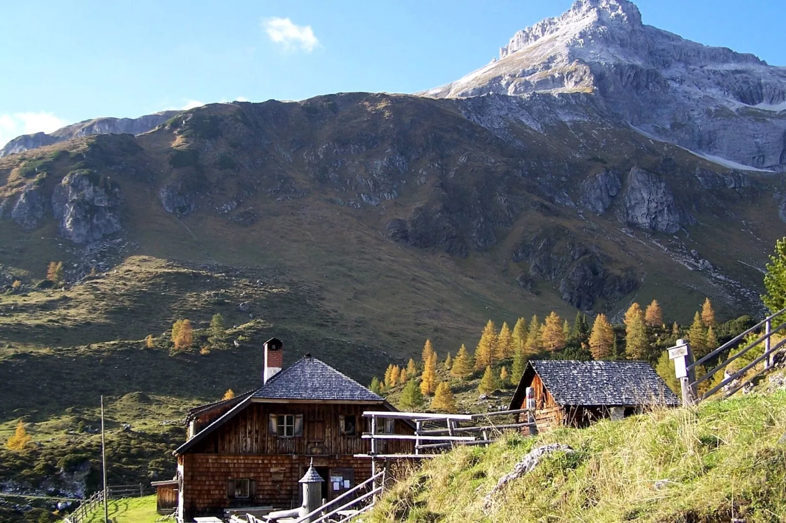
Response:
[[[310,354],[267,380],[255,399],[384,401],[349,376]]]

